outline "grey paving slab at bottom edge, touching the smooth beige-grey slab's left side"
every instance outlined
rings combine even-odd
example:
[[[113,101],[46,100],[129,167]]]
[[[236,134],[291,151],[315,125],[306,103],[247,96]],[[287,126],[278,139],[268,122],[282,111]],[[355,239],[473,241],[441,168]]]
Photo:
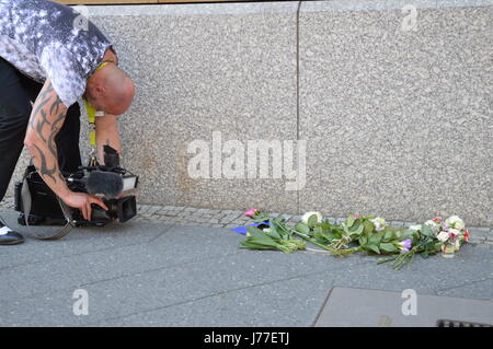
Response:
[[[307,293],[307,284],[310,292]],[[310,326],[330,278],[302,276],[105,321],[105,326]],[[296,316],[294,316],[296,314]],[[102,323],[98,323],[102,324]]]

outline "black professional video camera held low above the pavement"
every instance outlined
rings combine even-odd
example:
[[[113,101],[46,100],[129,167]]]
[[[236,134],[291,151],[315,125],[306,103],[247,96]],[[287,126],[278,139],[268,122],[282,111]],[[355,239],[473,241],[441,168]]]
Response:
[[[91,203],[91,220],[83,218],[82,212],[76,208],[68,208],[73,226],[95,225],[103,226],[115,220],[124,223],[137,214],[137,202],[134,195],[116,198],[123,191],[137,188],[138,176],[119,167],[118,153],[110,146],[104,146],[104,165],[79,166],[74,173],[65,175],[67,186],[76,193],[103,195],[103,202],[108,210],[96,203]],[[24,210],[23,185],[27,183],[31,196],[31,209],[27,217],[28,225],[65,224],[67,216],[64,213],[59,198],[45,184],[34,165],[25,170],[24,181],[15,184],[15,211],[19,211],[19,224],[26,225]],[[24,190],[25,193],[25,190]]]

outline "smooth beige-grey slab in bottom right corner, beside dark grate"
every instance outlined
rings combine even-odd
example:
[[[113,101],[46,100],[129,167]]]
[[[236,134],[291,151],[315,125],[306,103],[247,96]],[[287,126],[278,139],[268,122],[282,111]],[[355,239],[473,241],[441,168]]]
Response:
[[[411,295],[413,296],[413,295]],[[436,327],[438,321],[461,321],[493,326],[493,302],[426,294],[404,295],[410,313],[402,312],[402,292],[333,288],[317,318],[317,327],[397,326]],[[414,306],[411,305],[414,301]],[[353,309],[352,313],[347,309]]]

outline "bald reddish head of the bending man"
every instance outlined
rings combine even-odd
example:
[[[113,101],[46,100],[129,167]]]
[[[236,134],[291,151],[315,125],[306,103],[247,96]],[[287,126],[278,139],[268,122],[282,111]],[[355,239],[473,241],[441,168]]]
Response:
[[[107,63],[89,79],[85,96],[96,109],[121,115],[134,101],[135,85],[116,65]]]

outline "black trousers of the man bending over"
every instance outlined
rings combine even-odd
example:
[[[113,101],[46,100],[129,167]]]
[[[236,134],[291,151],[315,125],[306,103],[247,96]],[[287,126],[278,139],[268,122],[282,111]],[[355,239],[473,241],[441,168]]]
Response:
[[[12,173],[24,147],[32,104],[43,85],[19,72],[0,57],[0,201],[5,195]],[[58,164],[62,172],[80,166],[80,108],[74,103],[55,138]],[[12,193],[13,195],[13,193]]]

